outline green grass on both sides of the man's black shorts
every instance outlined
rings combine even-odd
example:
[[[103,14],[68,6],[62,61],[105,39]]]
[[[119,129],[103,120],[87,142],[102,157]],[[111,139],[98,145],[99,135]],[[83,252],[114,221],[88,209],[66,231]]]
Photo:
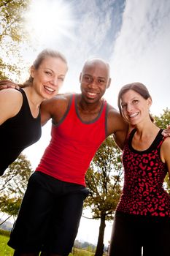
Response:
[[[9,236],[0,235],[0,256],[12,256],[14,250],[7,245],[7,241],[9,240]],[[74,254],[70,254],[69,256],[93,256],[93,252],[88,252],[83,249],[74,248]]]

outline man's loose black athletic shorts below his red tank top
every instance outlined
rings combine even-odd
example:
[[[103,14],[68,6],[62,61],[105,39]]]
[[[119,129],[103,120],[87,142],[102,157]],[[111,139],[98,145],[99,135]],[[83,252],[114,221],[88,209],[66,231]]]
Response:
[[[33,173],[8,245],[20,252],[69,255],[88,193],[82,185]]]

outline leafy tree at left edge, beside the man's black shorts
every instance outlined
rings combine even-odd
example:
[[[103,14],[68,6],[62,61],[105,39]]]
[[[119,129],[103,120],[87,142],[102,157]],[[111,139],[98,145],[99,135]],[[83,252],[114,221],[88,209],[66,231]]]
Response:
[[[32,171],[31,163],[23,154],[20,154],[18,159],[9,165],[4,175],[1,176],[1,212],[9,214],[9,216],[17,216]]]

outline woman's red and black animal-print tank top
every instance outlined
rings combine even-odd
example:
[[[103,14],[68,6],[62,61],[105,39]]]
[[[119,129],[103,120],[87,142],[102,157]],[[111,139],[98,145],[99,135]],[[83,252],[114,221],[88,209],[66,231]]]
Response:
[[[134,129],[123,151],[124,186],[117,211],[144,216],[170,217],[170,196],[163,189],[163,180],[168,172],[161,161],[163,143],[162,129],[152,145],[144,151],[131,146]]]

